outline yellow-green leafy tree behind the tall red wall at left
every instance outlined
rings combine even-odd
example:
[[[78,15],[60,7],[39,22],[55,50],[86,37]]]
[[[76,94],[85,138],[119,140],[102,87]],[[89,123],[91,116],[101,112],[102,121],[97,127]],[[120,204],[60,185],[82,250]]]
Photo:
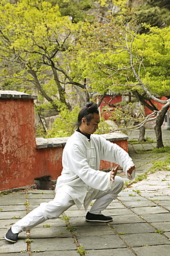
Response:
[[[70,76],[66,51],[72,48],[76,24],[61,17],[59,6],[45,1],[1,1],[0,18],[3,89],[16,84],[28,92],[36,88],[42,101],[45,98],[56,110],[62,104],[71,109],[67,84],[75,86],[76,92],[83,90],[85,101],[89,100],[85,82],[74,82]]]

